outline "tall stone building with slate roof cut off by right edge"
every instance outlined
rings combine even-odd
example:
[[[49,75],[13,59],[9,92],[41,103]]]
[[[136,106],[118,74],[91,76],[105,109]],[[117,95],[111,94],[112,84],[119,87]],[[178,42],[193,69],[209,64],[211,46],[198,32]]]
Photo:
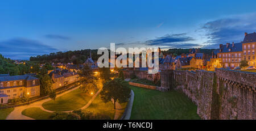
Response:
[[[255,66],[255,45],[256,33],[245,33],[245,38],[242,42],[243,59],[248,61],[249,66]]]

